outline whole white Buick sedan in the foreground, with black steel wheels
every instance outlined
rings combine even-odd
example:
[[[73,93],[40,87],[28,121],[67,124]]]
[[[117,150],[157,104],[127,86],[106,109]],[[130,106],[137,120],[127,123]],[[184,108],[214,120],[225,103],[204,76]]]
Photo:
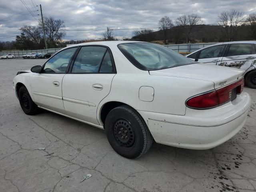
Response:
[[[158,44],[91,42],[64,48],[13,80],[22,110],[42,108],[102,128],[126,158],[153,141],[209,149],[244,125],[244,70],[206,66]]]

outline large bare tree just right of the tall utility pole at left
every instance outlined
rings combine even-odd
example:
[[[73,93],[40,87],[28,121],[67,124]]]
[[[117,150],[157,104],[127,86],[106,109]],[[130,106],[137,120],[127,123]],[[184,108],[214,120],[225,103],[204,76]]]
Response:
[[[56,46],[56,42],[62,40],[66,35],[65,32],[60,31],[61,27],[65,27],[64,21],[60,19],[55,20],[53,17],[44,17],[45,33],[50,46]],[[43,30],[42,20],[39,22],[39,28],[41,31]]]

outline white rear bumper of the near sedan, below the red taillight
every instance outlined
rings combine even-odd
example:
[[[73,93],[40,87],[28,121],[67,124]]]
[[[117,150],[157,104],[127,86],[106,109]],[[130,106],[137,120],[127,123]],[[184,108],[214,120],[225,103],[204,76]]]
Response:
[[[138,111],[157,143],[188,149],[214,148],[244,126],[250,108],[249,94],[242,93],[223,106],[209,110],[187,108],[186,115]]]

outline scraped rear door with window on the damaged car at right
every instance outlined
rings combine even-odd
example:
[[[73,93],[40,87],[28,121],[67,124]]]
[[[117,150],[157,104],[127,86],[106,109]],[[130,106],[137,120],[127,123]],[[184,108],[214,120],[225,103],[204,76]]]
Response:
[[[250,61],[255,59],[256,49],[254,44],[229,44],[220,65],[247,70],[250,67]]]

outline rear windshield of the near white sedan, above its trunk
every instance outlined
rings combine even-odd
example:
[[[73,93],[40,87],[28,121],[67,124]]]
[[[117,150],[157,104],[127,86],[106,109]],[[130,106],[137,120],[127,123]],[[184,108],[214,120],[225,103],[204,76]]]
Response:
[[[152,43],[124,43],[118,48],[128,60],[141,70],[160,70],[196,62],[162,45]]]

